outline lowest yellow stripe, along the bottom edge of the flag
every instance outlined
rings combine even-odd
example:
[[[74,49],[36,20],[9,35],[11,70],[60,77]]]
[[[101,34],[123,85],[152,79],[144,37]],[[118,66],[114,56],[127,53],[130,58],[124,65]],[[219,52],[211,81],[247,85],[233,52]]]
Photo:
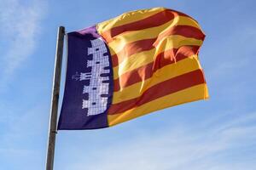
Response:
[[[125,111],[118,115],[108,115],[108,125],[113,126],[121,122],[129,121],[138,116],[146,115],[152,111],[165,109],[166,107],[180,105],[199,99],[207,99],[207,84],[200,84],[191,88],[178,91],[174,94],[166,95],[159,99],[154,99],[137,108]]]

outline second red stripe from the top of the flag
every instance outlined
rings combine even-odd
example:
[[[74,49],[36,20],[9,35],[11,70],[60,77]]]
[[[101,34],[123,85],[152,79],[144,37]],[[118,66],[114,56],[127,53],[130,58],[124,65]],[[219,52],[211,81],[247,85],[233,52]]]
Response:
[[[163,32],[159,37],[152,39],[139,40],[137,42],[130,42],[125,45],[118,54],[113,54],[112,61],[113,67],[119,65],[126,58],[132,54],[137,54],[145,50],[155,48],[159,42],[167,36],[180,35],[183,37],[193,37],[195,39],[203,40],[205,35],[202,31],[194,26],[174,26]],[[175,41],[175,40],[174,40]]]

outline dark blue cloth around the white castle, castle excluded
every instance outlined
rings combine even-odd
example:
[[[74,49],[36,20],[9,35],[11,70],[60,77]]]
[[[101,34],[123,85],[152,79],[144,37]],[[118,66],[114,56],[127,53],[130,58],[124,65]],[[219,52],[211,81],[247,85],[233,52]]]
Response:
[[[84,86],[90,85],[90,80],[81,80],[81,73],[86,75],[91,74],[91,67],[87,63],[92,60],[91,54],[88,54],[88,48],[91,48],[91,40],[100,37],[96,32],[96,27],[90,27],[83,31],[70,32],[67,34],[67,75],[64,96],[61,106],[61,116],[58,122],[59,130],[75,130],[75,129],[96,129],[108,127],[108,108],[112,102],[113,96],[113,70],[111,65],[111,58],[107,44],[109,65],[109,73],[104,74],[104,78],[108,77],[108,94],[102,94],[103,97],[108,98],[106,111],[88,116],[88,109],[82,108],[83,99],[90,100],[88,93],[83,93]],[[98,49],[96,49],[98,50]],[[98,61],[96,62],[96,64]],[[105,81],[106,82],[106,81]],[[95,90],[96,88],[92,88]],[[91,105],[96,105],[94,101]]]

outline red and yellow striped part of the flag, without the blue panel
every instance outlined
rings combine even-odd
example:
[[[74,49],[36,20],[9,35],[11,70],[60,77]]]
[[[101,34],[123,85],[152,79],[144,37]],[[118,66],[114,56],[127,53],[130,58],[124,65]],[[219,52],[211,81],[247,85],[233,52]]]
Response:
[[[97,24],[93,34],[106,44],[112,63],[105,127],[208,98],[198,59],[205,35],[187,14],[168,8],[132,11]]]

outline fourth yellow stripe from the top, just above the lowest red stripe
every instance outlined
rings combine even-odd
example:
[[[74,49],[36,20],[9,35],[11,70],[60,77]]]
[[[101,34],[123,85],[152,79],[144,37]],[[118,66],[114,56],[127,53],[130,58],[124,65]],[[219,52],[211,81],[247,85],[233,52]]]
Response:
[[[148,88],[153,87],[155,84],[164,82],[173,77],[183,75],[190,71],[200,69],[201,66],[199,61],[196,59],[196,56],[197,55],[192,55],[189,58],[180,60],[172,65],[166,65],[160,70],[155,71],[153,76],[144,82],[137,82],[129,87],[120,89],[118,92],[114,92],[112,103],[117,104],[128,99],[137,98],[142,95],[143,92],[145,92]]]

